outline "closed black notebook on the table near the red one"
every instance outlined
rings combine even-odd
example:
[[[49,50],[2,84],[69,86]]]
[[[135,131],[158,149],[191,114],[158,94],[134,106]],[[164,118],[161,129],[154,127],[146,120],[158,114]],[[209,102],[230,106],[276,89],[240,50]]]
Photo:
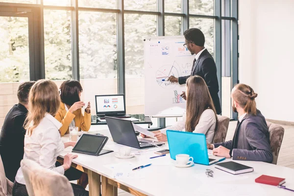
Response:
[[[233,161],[215,164],[215,168],[232,174],[253,172],[254,169]]]

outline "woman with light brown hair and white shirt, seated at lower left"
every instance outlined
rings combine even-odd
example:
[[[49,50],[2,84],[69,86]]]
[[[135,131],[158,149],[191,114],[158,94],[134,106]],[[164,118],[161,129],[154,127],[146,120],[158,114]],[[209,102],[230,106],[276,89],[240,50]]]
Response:
[[[73,158],[67,154],[63,165],[55,167],[57,156],[64,148],[74,146],[75,142],[62,143],[59,128],[62,126],[54,116],[60,106],[56,84],[50,80],[39,80],[32,87],[28,98],[28,115],[25,121],[24,159],[30,159],[49,170],[64,174],[70,169]],[[88,196],[89,193],[79,185],[72,184],[75,196]],[[16,174],[13,196],[28,196],[22,169]]]

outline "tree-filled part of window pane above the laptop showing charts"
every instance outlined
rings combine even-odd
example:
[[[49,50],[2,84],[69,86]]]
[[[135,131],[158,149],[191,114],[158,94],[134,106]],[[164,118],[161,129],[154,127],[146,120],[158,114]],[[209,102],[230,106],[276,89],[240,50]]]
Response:
[[[117,78],[117,14],[79,12],[80,78]]]

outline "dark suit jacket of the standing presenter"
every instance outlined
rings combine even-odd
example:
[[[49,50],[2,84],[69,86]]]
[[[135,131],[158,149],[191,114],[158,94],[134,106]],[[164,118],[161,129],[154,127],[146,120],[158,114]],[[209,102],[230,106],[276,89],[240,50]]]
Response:
[[[221,114],[221,102],[218,94],[219,81],[217,76],[217,66],[207,49],[203,50],[197,59],[196,64],[193,64],[191,75],[178,78],[179,84],[185,84],[186,80],[192,75],[199,75],[205,80],[217,114]]]

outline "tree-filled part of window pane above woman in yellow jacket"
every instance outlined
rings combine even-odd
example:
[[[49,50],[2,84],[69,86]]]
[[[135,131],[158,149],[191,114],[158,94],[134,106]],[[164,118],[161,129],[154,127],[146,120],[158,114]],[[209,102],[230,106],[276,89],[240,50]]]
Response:
[[[46,78],[72,78],[71,12],[44,10]]]

